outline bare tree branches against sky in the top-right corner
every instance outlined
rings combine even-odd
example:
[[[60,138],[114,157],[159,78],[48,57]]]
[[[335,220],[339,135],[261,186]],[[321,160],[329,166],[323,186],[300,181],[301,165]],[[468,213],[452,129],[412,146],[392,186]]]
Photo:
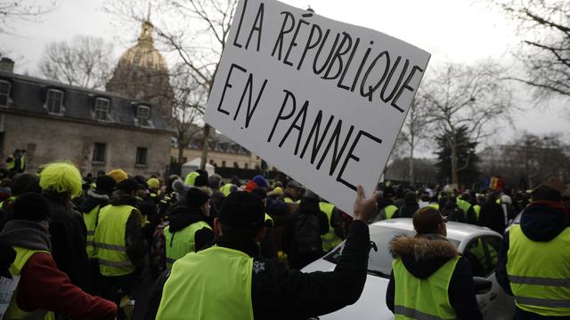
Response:
[[[488,0],[517,23],[524,35],[515,53],[526,75],[512,79],[533,86],[535,97],[570,98],[570,2],[566,0]]]

